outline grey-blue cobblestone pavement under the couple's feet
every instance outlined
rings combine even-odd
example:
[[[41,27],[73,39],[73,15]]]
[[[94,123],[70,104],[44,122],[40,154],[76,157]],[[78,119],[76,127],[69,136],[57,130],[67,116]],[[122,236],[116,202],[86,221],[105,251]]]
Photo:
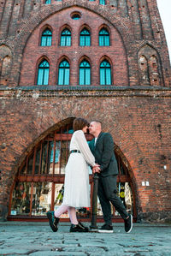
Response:
[[[171,256],[171,225],[134,223],[130,234],[123,223],[113,225],[113,234],[84,234],[69,233],[69,223],[56,233],[49,223],[0,223],[0,255]]]

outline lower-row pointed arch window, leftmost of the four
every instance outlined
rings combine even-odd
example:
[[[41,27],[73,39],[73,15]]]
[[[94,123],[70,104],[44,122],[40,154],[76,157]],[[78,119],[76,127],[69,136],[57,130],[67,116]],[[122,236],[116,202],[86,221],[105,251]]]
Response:
[[[38,82],[39,86],[47,86],[49,83],[50,64],[43,60],[38,66]]]

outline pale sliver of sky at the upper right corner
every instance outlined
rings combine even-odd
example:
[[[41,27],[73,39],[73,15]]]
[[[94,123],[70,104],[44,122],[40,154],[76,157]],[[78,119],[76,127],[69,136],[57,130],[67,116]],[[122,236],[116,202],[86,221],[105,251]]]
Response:
[[[162,26],[168,43],[168,51],[171,62],[171,0],[156,0],[162,18]]]

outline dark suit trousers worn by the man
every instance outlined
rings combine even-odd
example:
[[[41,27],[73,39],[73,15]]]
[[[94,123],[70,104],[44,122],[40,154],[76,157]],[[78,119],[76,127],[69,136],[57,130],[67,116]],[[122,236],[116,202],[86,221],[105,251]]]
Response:
[[[113,176],[99,176],[98,182],[98,198],[102,205],[103,219],[106,224],[111,225],[111,205],[115,206],[123,219],[126,219],[128,213],[121,199],[117,196],[117,175]]]

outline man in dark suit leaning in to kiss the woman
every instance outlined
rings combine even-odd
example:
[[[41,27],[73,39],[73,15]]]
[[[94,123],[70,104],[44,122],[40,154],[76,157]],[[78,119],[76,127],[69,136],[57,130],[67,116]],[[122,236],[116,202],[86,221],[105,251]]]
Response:
[[[133,216],[128,214],[121,199],[117,196],[117,175],[118,166],[114,153],[114,141],[111,134],[102,132],[101,122],[93,121],[90,124],[89,132],[94,139],[89,143],[92,154],[96,159],[99,167],[93,169],[93,173],[99,175],[98,198],[102,205],[104,225],[98,229],[100,233],[112,233],[113,227],[111,222],[111,206],[115,206],[125,222],[127,233],[133,228]]]

